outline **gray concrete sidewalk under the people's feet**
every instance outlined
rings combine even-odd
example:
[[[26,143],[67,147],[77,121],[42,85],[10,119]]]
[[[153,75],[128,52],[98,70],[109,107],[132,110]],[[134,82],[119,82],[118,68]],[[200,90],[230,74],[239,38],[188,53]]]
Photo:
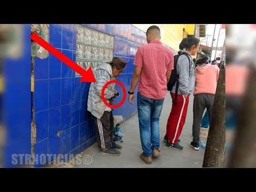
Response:
[[[175,150],[166,147],[163,138],[166,132],[167,118],[169,117],[172,99],[170,92],[166,93],[166,98],[163,105],[163,110],[160,117],[160,148],[161,157],[153,158],[152,164],[146,164],[140,158],[142,153],[139,133],[138,115],[134,115],[123,124],[121,130],[125,136],[123,143],[116,141],[119,145],[123,146],[121,155],[110,156],[100,154],[97,142],[91,147],[83,151],[82,157],[90,155],[92,162],[89,165],[81,164],[75,165],[76,168],[91,168],[91,167],[202,167],[204,159],[204,149],[199,148],[199,151],[194,150],[189,146],[192,141],[192,124],[193,124],[193,95],[189,97],[188,114],[185,126],[183,127],[180,135],[180,145],[183,150]]]

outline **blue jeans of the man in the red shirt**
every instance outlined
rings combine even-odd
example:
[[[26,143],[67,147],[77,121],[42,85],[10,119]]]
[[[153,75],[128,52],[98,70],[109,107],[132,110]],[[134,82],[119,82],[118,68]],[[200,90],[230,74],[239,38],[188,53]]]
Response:
[[[160,146],[159,117],[164,99],[150,99],[138,92],[137,106],[140,126],[140,141],[145,157],[151,157],[152,150]]]

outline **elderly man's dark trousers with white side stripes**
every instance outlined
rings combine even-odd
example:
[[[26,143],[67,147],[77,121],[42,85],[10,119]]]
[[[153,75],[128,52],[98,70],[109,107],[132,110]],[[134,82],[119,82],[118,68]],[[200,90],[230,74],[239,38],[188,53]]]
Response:
[[[100,119],[93,115],[92,118],[99,148],[111,148],[114,138],[114,117],[112,111],[105,111]]]

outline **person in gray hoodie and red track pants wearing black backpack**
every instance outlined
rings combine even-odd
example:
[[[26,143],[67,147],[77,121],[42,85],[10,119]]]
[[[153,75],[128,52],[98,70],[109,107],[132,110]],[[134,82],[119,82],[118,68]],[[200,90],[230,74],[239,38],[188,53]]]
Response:
[[[195,86],[195,64],[191,55],[199,50],[199,39],[183,38],[178,55],[174,56],[174,69],[167,84],[172,97],[172,109],[166,125],[165,146],[182,150],[179,137],[186,121],[189,94]],[[186,50],[184,50],[186,49]]]

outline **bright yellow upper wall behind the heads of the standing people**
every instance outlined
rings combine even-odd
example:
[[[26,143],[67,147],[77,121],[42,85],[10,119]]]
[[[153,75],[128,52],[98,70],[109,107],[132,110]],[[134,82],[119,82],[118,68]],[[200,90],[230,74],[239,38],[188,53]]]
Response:
[[[146,32],[148,27],[156,25],[161,30],[161,42],[172,47],[174,50],[179,51],[179,44],[183,38],[187,37],[183,33],[185,28],[188,35],[194,34],[194,24],[132,24],[134,27]],[[146,37],[145,37],[146,38]]]

